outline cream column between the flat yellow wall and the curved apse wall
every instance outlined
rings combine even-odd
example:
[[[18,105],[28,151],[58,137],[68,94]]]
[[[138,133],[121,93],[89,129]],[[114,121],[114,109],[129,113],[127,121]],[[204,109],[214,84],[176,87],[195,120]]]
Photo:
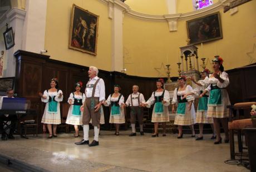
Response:
[[[121,72],[124,68],[123,18],[129,6],[120,0],[109,1],[109,18],[112,19],[112,71]]]

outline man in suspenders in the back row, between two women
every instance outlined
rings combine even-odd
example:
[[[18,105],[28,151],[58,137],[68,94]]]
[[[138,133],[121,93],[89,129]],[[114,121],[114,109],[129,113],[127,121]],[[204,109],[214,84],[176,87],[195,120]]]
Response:
[[[139,124],[140,124],[140,135],[144,135],[143,132],[143,112],[141,103],[145,103],[145,99],[143,94],[139,93],[139,86],[133,85],[132,86],[132,94],[129,95],[128,99],[126,100],[126,106],[130,106],[131,108],[131,128],[132,133],[130,136],[136,135],[136,129],[135,129],[135,123],[136,123],[136,116],[138,118]]]

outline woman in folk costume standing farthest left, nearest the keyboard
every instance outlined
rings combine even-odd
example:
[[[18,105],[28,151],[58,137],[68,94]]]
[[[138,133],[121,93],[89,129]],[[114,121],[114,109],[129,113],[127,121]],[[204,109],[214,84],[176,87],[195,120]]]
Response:
[[[50,85],[50,89],[45,90],[43,94],[39,93],[42,102],[46,103],[42,123],[47,124],[49,131],[48,138],[52,138],[52,136],[57,137],[57,124],[61,124],[60,102],[63,100],[63,93],[58,89],[58,79],[51,79]]]

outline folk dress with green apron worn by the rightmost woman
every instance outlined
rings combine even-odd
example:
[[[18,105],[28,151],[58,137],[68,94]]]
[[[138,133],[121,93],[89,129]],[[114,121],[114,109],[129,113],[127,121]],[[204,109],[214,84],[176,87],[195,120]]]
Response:
[[[208,117],[213,118],[228,118],[229,109],[227,105],[230,105],[229,96],[226,87],[229,85],[229,78],[226,72],[220,73],[220,78],[224,80],[221,83],[213,74],[210,74],[209,79],[205,80],[210,84],[209,101],[208,101]]]

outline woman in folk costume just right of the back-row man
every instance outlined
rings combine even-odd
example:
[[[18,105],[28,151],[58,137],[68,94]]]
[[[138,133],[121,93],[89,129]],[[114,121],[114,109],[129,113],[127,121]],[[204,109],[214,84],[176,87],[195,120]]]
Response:
[[[154,134],[152,137],[158,136],[159,123],[163,125],[163,136],[166,136],[166,122],[170,122],[168,106],[170,105],[170,96],[168,90],[163,89],[164,79],[156,81],[156,91],[152,93],[149,100],[143,103],[144,107],[150,108],[154,104],[151,122],[154,123]]]

